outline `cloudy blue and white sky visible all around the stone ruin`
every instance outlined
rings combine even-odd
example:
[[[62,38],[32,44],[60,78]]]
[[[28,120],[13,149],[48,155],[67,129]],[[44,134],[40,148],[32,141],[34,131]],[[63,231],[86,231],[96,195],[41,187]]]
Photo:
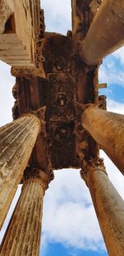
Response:
[[[69,0],[41,0],[41,7],[45,9],[46,31],[66,34],[71,29]],[[99,94],[107,95],[107,110],[124,114],[124,47],[103,60],[99,69],[99,82],[107,83],[107,89],[99,91]],[[10,67],[1,61],[0,126],[12,121],[14,83]],[[124,198],[122,174],[104,152],[101,152],[101,156],[112,184]],[[21,186],[3,225],[1,239],[20,191]],[[80,178],[79,170],[55,171],[55,180],[51,181],[45,192],[40,256],[58,255],[107,255],[88,187]]]

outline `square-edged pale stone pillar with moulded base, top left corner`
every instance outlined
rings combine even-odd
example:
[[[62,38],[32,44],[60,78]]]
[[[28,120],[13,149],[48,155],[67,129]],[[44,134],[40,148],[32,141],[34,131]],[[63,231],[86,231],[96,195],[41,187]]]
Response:
[[[1,5],[0,59],[12,66],[12,75],[45,78],[42,65],[45,23],[40,1],[6,0]]]

